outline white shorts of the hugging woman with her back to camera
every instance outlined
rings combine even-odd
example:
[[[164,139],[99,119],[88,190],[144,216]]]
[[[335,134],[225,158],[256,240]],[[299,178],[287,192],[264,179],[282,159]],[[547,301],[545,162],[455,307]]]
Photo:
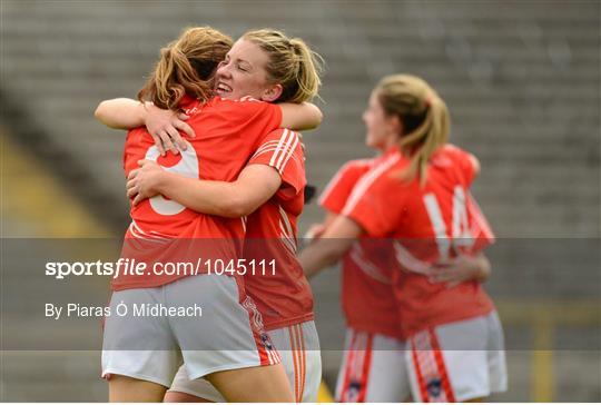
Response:
[[[125,308],[128,314],[118,315]],[[188,309],[174,316],[160,308]],[[234,278],[190,276],[112,294],[105,320],[102,377],[119,374],[169,387],[183,362],[193,378],[279,363],[260,314],[239,294]]]

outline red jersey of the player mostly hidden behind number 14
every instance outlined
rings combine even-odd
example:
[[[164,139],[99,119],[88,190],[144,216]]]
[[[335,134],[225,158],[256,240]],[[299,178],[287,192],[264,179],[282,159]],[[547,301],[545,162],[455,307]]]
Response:
[[[319,204],[342,214],[357,181],[381,158],[351,160],[329,181]],[[392,269],[374,260],[376,246],[367,238],[353,245],[343,258],[342,302],[349,327],[375,334],[401,337],[400,319],[392,288]]]

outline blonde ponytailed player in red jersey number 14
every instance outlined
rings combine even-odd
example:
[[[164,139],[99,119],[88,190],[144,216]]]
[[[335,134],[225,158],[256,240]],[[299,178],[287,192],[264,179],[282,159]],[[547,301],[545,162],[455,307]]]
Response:
[[[325,228],[322,239],[302,251],[299,260],[305,271],[314,274],[336,261],[357,245],[358,238],[367,236],[370,239],[362,249],[371,253],[370,261],[375,258],[392,270],[384,278],[381,268],[386,267],[365,260],[363,266],[376,275],[372,278],[388,280],[388,288],[392,284],[395,314],[398,314],[397,336],[408,339],[410,345],[406,352],[398,352],[398,363],[405,363],[407,375],[400,372],[397,377],[404,377],[406,391],[398,387],[395,394],[406,395],[411,386],[415,401],[455,402],[506,389],[501,326],[492,302],[477,280],[489,273],[485,258],[474,258],[475,266],[464,261],[467,273],[459,273],[456,279],[445,279],[445,284],[434,284],[431,279],[440,273],[433,267],[436,261],[447,261],[457,254],[471,255],[465,247],[472,247],[473,237],[485,239],[479,241],[480,249],[487,244],[486,238],[492,237],[472,235],[469,228],[483,220],[467,217],[473,211],[467,210],[465,196],[479,170],[475,158],[446,145],[446,106],[427,83],[412,76],[382,79],[372,92],[364,121],[367,142],[378,145],[384,152],[371,162],[361,162],[366,172],[354,186],[341,215]],[[361,166],[355,170],[361,171]],[[442,211],[437,200],[444,204]],[[484,225],[481,227],[484,229]],[[449,228],[452,233],[447,234]],[[471,266],[474,266],[472,273]],[[452,284],[446,285],[449,281]],[[361,306],[353,307],[357,308]],[[383,308],[374,306],[373,309]],[[456,320],[464,323],[449,325]],[[417,334],[423,330],[430,334],[426,343]],[[371,378],[376,382],[373,384],[394,384],[395,387],[400,384],[398,381],[383,383],[388,371],[395,369],[391,364],[386,364],[383,376],[377,372],[370,376],[372,357],[377,362],[377,356],[385,356],[383,364],[393,360],[386,352],[372,355],[372,346],[377,340],[368,333],[351,334],[351,347],[362,339],[364,347],[359,348],[364,352],[358,352],[359,359],[353,352],[345,357],[338,379],[341,399],[365,401]],[[402,346],[402,342],[397,340],[397,345]],[[384,347],[382,344],[381,348]],[[361,372],[353,372],[355,362]],[[361,378],[355,383],[357,386],[353,386],[357,375]]]

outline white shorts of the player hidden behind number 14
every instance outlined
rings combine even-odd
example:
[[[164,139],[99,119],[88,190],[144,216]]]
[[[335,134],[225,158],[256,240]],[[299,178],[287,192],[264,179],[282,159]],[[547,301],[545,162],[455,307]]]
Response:
[[[347,328],[336,402],[398,403],[410,397],[405,343]]]

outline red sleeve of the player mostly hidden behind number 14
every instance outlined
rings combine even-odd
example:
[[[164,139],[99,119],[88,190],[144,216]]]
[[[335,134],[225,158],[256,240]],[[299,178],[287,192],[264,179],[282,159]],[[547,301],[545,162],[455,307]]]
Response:
[[[319,197],[319,205],[334,214],[341,214],[358,179],[370,170],[370,159],[351,160],[329,180]]]

